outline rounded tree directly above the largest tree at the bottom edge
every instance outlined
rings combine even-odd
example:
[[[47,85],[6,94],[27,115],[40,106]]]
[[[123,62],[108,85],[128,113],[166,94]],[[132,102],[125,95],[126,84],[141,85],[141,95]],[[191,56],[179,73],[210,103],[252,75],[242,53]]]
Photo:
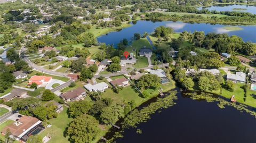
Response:
[[[68,113],[71,117],[75,118],[77,116],[86,114],[91,109],[91,104],[86,100],[80,100],[77,102],[71,103],[68,108]]]

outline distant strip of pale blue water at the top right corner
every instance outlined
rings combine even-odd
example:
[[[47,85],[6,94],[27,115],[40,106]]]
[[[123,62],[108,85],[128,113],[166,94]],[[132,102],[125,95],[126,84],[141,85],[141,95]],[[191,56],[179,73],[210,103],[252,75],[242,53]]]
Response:
[[[250,13],[256,14],[256,6],[255,5],[220,4],[220,5],[212,5],[210,7],[201,6],[201,7],[198,7],[198,10],[207,9],[209,11],[213,11],[213,10],[215,10],[215,11],[237,11],[237,10],[233,10],[235,8],[247,9],[247,10],[242,10],[240,12],[250,12]]]

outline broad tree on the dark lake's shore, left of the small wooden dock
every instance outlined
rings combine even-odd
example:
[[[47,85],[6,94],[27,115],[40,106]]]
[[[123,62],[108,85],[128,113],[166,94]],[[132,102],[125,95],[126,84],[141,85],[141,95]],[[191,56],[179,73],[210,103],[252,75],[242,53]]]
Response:
[[[161,79],[157,77],[155,74],[146,74],[142,75],[142,77],[136,83],[138,88],[147,89],[150,87],[159,87]]]

